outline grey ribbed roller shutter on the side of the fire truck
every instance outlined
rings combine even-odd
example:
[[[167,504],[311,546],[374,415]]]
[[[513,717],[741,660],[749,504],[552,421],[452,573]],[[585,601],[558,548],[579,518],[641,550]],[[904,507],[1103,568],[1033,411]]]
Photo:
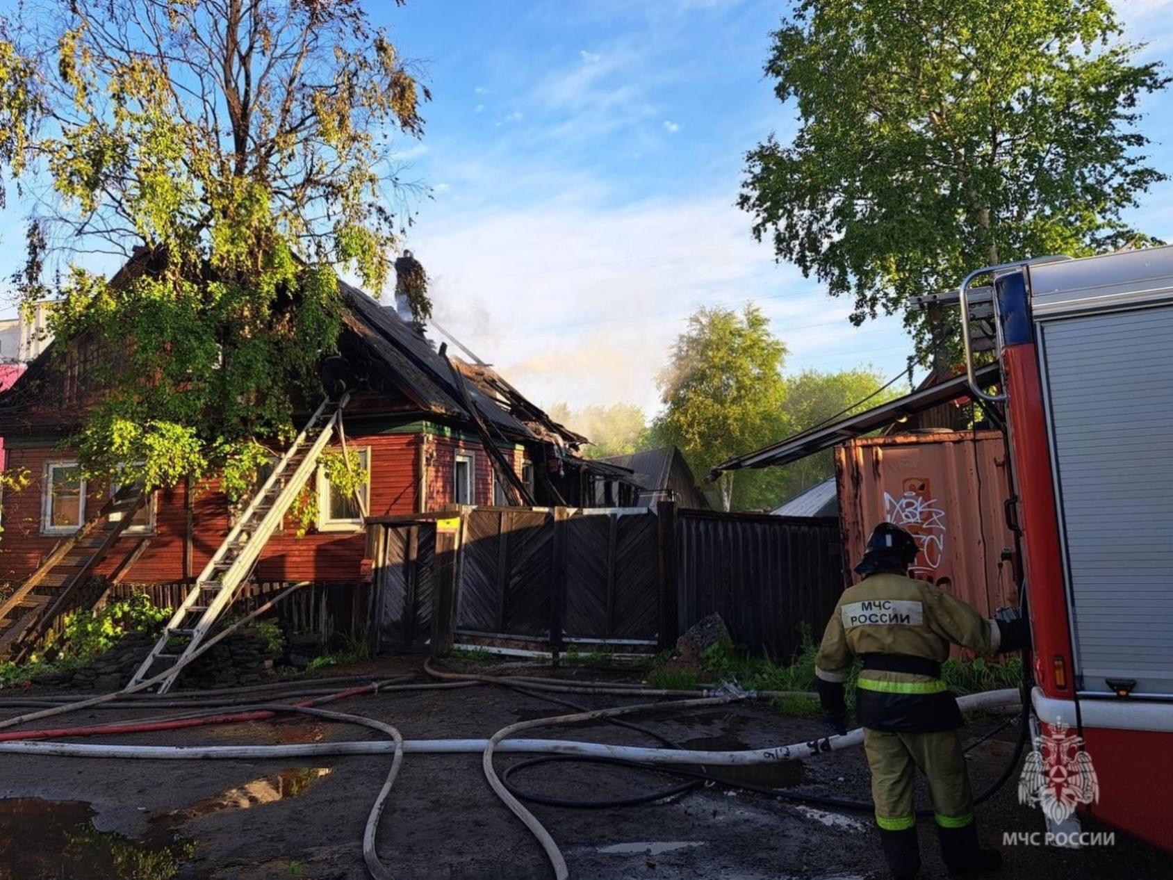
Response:
[[[1173,695],[1173,303],[1091,300],[1038,323],[1078,689]]]

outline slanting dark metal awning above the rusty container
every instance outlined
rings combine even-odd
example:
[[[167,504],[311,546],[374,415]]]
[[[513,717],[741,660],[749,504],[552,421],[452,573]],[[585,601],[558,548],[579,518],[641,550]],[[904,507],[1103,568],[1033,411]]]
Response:
[[[1001,378],[997,364],[981,367],[976,371],[975,378],[981,386],[992,385]],[[887,404],[873,409],[866,409],[846,419],[820,425],[804,431],[801,434],[787,438],[777,444],[762,447],[747,455],[735,455],[708,472],[708,479],[717,479],[724,471],[740,471],[745,467],[771,467],[772,465],[788,465],[792,461],[805,459],[822,449],[850,440],[854,436],[862,436],[873,431],[877,431],[894,421],[899,421],[908,415],[931,409],[941,404],[947,404],[955,398],[969,394],[969,385],[965,375],[955,375],[928,388],[914,391],[902,398],[889,400]]]

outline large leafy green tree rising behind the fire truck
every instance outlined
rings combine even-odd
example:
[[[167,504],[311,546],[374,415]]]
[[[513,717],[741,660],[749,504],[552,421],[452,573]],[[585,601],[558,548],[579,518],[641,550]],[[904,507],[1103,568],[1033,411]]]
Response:
[[[1164,180],[1137,122],[1168,79],[1120,33],[1108,0],[800,2],[766,62],[800,124],[747,156],[754,235],[856,324],[985,264],[1145,242],[1121,215]]]

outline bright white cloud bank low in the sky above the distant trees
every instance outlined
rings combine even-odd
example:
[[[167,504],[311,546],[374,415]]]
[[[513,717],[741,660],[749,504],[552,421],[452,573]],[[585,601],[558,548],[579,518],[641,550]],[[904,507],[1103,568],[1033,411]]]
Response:
[[[791,368],[876,363],[895,372],[899,321],[854,329],[724,197],[597,207],[592,201],[475,214],[413,233],[433,276],[436,320],[523,393],[550,405],[658,406],[656,373],[699,305],[754,299],[791,348]],[[899,370],[899,366],[896,367]]]

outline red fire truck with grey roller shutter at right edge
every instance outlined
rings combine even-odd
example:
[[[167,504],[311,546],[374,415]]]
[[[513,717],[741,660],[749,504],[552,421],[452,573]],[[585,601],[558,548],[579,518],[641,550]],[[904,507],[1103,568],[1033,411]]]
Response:
[[[1173,246],[986,266],[958,299],[971,391],[1004,404],[1035,724],[1083,737],[1083,814],[1173,849]]]

